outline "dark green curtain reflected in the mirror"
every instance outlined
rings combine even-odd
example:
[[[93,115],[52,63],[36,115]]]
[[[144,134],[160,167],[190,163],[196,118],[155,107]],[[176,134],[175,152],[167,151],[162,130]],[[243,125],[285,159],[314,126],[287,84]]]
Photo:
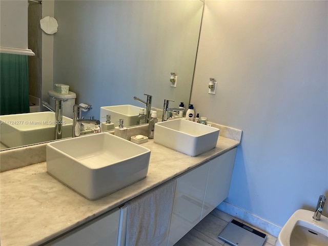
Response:
[[[0,114],[29,112],[28,57],[0,53]]]

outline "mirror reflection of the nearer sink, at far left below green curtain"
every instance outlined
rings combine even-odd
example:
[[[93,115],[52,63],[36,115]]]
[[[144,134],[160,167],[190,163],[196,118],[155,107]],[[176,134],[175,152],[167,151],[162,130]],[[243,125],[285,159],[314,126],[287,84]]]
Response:
[[[7,148],[55,139],[55,113],[36,112],[0,116],[1,144]],[[62,138],[72,136],[73,120],[63,116]]]

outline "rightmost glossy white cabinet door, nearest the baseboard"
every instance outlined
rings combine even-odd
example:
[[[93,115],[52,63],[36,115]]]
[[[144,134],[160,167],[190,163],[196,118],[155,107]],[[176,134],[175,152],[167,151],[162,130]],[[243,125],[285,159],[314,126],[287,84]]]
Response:
[[[210,171],[204,197],[201,219],[207,216],[224,199],[227,198],[232,178],[232,171],[237,148],[210,161]]]

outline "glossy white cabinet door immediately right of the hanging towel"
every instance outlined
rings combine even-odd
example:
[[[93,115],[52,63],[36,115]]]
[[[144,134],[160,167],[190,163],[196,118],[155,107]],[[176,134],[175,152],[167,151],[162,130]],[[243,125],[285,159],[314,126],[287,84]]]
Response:
[[[176,179],[168,245],[175,244],[200,221],[209,162]]]

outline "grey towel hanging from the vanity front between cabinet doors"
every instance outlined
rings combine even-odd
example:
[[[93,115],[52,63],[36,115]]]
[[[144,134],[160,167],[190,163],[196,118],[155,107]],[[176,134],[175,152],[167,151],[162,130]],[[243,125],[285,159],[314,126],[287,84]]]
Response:
[[[171,179],[126,203],[127,246],[167,245],[175,183]]]

